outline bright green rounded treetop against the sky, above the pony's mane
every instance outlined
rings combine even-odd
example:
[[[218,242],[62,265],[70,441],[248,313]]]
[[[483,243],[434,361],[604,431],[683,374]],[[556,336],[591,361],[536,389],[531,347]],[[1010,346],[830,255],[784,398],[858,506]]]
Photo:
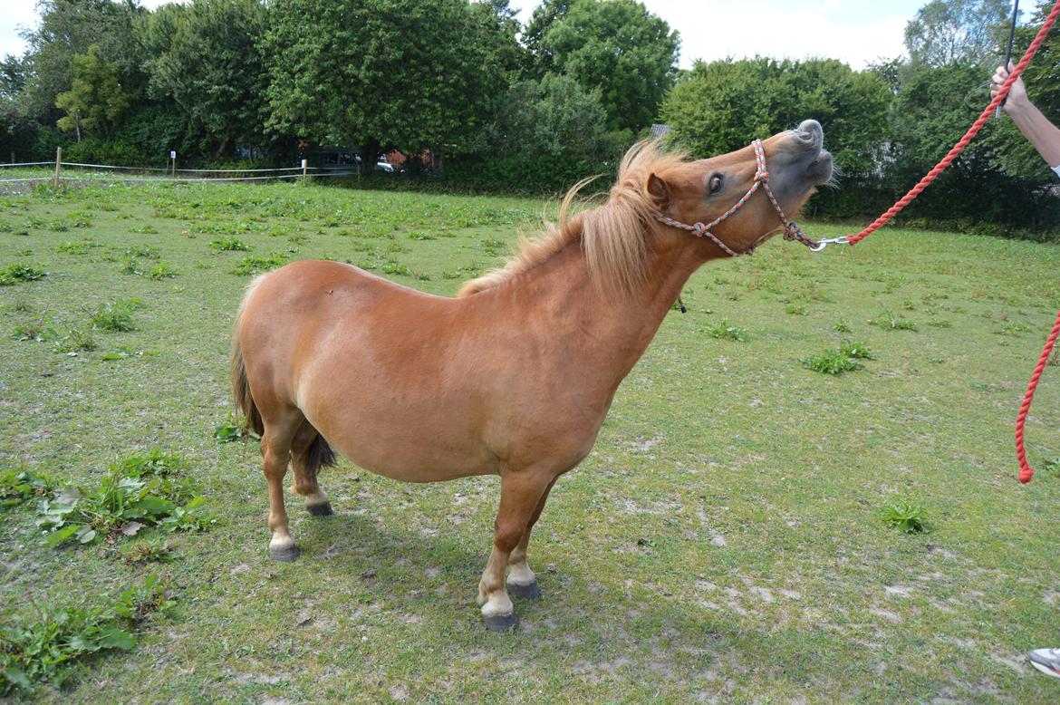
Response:
[[[538,10],[527,29],[538,73],[599,88],[612,129],[650,125],[677,74],[677,32],[636,0],[546,2]]]

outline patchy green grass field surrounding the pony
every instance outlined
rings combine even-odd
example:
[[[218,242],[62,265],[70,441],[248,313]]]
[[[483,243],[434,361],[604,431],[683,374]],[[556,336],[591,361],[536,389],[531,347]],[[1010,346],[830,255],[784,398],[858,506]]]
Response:
[[[1029,487],[1011,440],[1060,307],[1052,245],[895,230],[817,255],[776,241],[702,269],[690,313],[665,321],[553,491],[530,550],[545,596],[517,601],[515,633],[487,632],[474,602],[496,478],[400,484],[343,463],[321,478],[336,515],[293,503],[302,558],[269,562],[257,444],[213,438],[249,281],[233,270],[326,257],[453,294],[542,208],[294,184],[0,197],[0,269],[46,272],[0,287],[0,474],[89,488],[159,448],[213,516],[200,532],[48,548],[37,500],[0,509],[3,623],[102,607],[152,575],[172,602],[135,646],[60,665],[65,685],[32,697],[1060,699],[1023,660],[1060,646],[1060,368],[1028,423]],[[870,352],[861,369],[801,362],[844,339]],[[922,507],[928,533],[882,519],[901,503]],[[123,559],[152,541],[170,560]]]

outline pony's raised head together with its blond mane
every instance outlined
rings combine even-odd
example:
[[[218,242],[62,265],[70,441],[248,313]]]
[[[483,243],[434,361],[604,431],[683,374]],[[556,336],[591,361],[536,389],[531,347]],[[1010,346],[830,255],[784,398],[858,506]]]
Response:
[[[779,208],[793,217],[814,190],[832,178],[832,155],[814,120],[761,142],[768,184]],[[590,278],[602,289],[632,292],[647,274],[649,252],[656,247],[692,248],[705,261],[726,251],[709,237],[696,239],[659,222],[712,224],[762,180],[755,146],[719,157],[689,161],[666,152],[658,142],[635,144],[622,158],[607,201],[571,215],[582,181],[567,193],[556,224],[548,234],[525,241],[522,251],[501,269],[467,282],[461,296],[490,288],[547,260],[580,240]],[[783,223],[766,189],[760,184],[730,216],[710,231],[725,248],[745,252],[781,230]]]

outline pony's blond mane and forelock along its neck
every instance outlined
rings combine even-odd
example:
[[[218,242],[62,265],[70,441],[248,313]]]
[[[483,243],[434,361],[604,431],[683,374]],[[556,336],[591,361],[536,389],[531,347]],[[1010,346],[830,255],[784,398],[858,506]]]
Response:
[[[634,144],[622,157],[618,179],[605,204],[571,214],[578,194],[597,177],[579,181],[564,197],[555,223],[546,221],[545,231],[536,237],[522,237],[519,251],[505,266],[465,283],[458,296],[493,288],[532,269],[579,239],[594,284],[602,290],[631,292],[644,277],[648,260],[644,230],[653,222],[655,210],[647,192],[648,177],[672,172],[683,163],[684,154],[665,152],[657,140]]]

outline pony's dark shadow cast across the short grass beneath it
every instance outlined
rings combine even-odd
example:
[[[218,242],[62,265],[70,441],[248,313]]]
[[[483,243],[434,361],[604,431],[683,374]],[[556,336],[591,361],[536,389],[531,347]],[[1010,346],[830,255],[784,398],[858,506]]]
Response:
[[[326,592],[353,596],[318,596],[339,642],[358,634],[354,624],[367,620],[385,625],[391,638],[444,649],[447,659],[469,668],[485,662],[534,678],[552,678],[561,669],[586,684],[633,678],[644,687],[667,683],[673,692],[722,697],[737,682],[757,677],[792,693],[808,686],[811,692],[834,693],[851,676],[872,673],[869,649],[837,634],[834,625],[807,630],[799,620],[787,624],[787,618],[711,607],[695,594],[661,594],[626,579],[610,552],[549,570],[547,552],[535,551],[533,543],[530,561],[544,597],[513,600],[518,630],[490,633],[474,598],[492,533],[471,546],[445,536],[444,525],[437,535],[413,533],[409,526],[423,518],[414,509],[416,518],[404,525],[336,509],[340,513],[334,516],[298,523],[302,554],[294,569],[317,574]],[[724,568],[701,568],[711,569]],[[845,664],[842,673],[836,658]],[[863,682],[852,692],[873,687]]]

